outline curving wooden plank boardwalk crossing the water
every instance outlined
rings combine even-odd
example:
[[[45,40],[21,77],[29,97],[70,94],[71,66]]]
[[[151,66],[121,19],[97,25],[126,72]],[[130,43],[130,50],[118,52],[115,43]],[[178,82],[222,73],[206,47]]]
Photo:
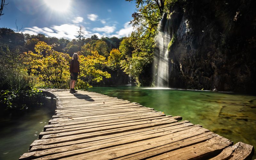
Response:
[[[250,159],[254,148],[200,125],[95,92],[45,90],[56,114],[20,159]]]

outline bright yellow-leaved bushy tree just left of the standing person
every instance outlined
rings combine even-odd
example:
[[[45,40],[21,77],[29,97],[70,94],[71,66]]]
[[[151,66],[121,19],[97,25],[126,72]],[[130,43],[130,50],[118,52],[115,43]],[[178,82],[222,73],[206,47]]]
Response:
[[[69,79],[68,62],[71,57],[57,52],[45,42],[39,41],[35,51],[25,52],[21,60],[27,65],[27,71],[36,76],[37,87],[67,88]]]

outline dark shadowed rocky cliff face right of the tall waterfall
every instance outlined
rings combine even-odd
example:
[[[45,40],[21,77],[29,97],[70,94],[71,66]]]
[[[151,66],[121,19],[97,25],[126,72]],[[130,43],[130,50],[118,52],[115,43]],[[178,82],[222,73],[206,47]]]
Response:
[[[169,87],[256,93],[255,8],[255,0],[188,0],[170,8]]]

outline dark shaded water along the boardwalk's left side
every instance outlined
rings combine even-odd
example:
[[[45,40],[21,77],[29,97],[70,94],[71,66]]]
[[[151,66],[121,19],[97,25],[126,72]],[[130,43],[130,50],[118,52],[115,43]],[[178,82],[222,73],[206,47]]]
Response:
[[[56,100],[44,98],[42,106],[35,106],[20,116],[1,117],[0,159],[19,159],[28,152],[30,144],[52,119],[55,109]]]

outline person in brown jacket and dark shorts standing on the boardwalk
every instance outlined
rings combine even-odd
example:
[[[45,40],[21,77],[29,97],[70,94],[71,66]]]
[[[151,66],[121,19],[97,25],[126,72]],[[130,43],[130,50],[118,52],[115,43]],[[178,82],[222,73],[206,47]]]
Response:
[[[75,84],[77,81],[77,76],[80,74],[80,66],[78,62],[78,54],[74,53],[73,54],[73,60],[70,61],[70,66],[69,66],[69,72],[70,72],[70,93],[76,93],[75,91]]]

